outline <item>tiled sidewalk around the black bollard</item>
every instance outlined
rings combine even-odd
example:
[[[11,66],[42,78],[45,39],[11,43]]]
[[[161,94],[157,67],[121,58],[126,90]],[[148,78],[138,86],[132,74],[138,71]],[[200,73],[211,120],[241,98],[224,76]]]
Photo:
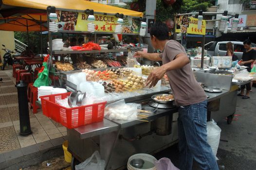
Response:
[[[0,70],[0,78],[3,79],[0,83],[0,169],[7,168],[8,161],[20,156],[61,146],[66,140],[66,127],[44,116],[41,110],[37,114],[30,110],[33,134],[19,135],[16,80],[12,77],[12,70]]]

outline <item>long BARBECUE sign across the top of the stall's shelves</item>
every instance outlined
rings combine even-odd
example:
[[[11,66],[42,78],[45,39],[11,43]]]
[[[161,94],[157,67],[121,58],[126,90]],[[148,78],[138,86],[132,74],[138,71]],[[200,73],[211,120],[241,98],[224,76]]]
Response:
[[[83,12],[56,11],[58,16],[58,30],[61,31],[87,31],[88,14]],[[94,14],[95,32],[114,33],[115,26],[118,25],[117,17]],[[124,17],[123,33],[139,34],[140,21],[132,17]]]

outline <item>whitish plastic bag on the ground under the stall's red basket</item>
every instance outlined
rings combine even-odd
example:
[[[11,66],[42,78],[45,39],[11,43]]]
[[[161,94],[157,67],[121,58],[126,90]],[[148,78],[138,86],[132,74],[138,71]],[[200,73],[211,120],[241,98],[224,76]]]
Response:
[[[90,158],[86,159],[79,165],[75,166],[75,170],[104,170],[105,160],[100,158],[100,153],[95,151]]]

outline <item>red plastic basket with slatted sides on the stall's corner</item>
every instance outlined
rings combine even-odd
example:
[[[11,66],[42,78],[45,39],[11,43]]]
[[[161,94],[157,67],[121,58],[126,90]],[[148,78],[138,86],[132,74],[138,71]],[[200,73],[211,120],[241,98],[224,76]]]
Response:
[[[70,93],[61,93],[41,96],[43,114],[69,129],[103,120],[107,102],[73,108],[63,107],[56,103],[57,100],[65,99],[69,95]]]

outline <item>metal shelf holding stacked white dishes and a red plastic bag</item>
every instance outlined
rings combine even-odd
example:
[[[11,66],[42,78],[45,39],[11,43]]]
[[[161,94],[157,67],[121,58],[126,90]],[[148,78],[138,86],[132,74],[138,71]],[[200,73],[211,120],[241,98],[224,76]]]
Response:
[[[53,54],[84,54],[84,53],[104,53],[104,52],[129,52],[129,51],[143,51],[138,50],[90,50],[90,51],[53,51]]]

